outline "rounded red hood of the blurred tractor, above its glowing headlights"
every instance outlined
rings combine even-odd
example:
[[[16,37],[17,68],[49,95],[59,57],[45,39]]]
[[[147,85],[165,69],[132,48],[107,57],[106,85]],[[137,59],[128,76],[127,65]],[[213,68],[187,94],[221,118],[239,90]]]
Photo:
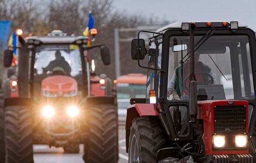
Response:
[[[77,81],[68,76],[55,75],[42,80],[41,90],[46,97],[75,96]]]

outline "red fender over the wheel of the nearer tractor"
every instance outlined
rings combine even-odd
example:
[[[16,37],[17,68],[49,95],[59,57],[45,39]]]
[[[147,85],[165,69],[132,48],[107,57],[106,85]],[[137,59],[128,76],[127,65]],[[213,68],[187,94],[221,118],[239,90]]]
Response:
[[[141,116],[158,116],[158,112],[155,109],[155,104],[132,104],[127,108],[125,135],[126,135],[126,152],[128,153],[130,127],[132,121],[136,117]]]

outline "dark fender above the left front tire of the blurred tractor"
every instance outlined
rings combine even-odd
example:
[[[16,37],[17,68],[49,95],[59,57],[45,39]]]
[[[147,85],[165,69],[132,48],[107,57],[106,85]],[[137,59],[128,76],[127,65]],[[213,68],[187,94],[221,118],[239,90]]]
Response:
[[[5,98],[4,106],[14,106],[14,105],[27,105],[30,106],[33,104],[31,98]]]

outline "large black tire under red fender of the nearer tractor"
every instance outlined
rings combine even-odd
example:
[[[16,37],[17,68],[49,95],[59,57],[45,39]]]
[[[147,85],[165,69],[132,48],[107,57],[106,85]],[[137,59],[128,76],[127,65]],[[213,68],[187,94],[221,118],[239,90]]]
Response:
[[[137,117],[129,137],[128,163],[155,163],[157,151],[165,148],[167,136],[158,117]]]

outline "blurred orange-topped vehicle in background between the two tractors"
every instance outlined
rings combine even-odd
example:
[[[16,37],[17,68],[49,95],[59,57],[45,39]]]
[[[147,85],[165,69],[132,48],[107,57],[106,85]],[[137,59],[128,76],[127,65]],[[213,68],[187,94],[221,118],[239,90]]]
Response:
[[[117,78],[116,89],[119,125],[125,124],[130,98],[145,97],[146,83],[147,76],[140,73],[130,73]]]

